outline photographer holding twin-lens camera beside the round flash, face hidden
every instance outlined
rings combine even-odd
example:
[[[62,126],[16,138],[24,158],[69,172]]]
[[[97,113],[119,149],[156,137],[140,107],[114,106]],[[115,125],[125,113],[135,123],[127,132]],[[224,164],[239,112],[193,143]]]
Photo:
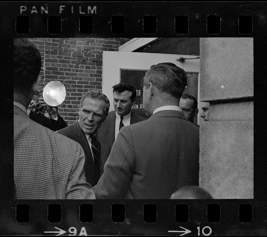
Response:
[[[38,92],[36,93],[36,95],[38,95]],[[54,132],[58,131],[59,129],[65,128],[67,127],[66,122],[64,121],[64,119],[62,119],[61,116],[59,116],[59,114],[57,113],[57,107],[52,107],[47,105],[44,102],[44,99],[42,97],[38,97],[39,101],[35,101],[32,100],[30,105],[34,102],[40,104],[41,106],[43,106],[45,108],[44,112],[39,112],[39,113],[33,113],[33,111],[30,108],[30,105],[28,107],[28,116],[30,117],[30,119],[32,119],[33,121],[35,121],[38,124],[41,124],[51,130],[53,130]],[[55,110],[54,110],[55,108]],[[47,111],[47,113],[45,113]]]

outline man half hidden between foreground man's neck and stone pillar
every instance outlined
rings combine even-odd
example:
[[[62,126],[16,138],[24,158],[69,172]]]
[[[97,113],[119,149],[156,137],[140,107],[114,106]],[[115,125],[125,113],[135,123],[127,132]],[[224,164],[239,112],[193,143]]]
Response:
[[[195,124],[194,117],[198,114],[197,99],[192,95],[183,94],[179,102],[179,107],[182,109],[186,119],[192,124]]]

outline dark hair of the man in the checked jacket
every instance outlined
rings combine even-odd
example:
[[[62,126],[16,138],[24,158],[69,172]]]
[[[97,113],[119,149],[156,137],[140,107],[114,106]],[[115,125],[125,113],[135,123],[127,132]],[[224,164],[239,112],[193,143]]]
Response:
[[[41,54],[35,45],[26,38],[14,39],[14,92],[31,92],[41,66]]]

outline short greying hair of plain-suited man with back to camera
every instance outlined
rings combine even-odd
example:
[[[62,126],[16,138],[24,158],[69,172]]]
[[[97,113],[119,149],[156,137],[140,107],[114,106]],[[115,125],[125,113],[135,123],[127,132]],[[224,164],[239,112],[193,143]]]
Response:
[[[184,69],[173,63],[158,63],[152,65],[144,76],[144,87],[151,82],[161,92],[171,94],[173,97],[181,98],[187,79]]]

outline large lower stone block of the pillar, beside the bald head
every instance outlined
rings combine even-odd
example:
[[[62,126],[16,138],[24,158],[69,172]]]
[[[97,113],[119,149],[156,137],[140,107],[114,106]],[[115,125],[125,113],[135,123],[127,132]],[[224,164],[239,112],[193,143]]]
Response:
[[[253,121],[200,126],[199,181],[213,198],[253,198]]]

